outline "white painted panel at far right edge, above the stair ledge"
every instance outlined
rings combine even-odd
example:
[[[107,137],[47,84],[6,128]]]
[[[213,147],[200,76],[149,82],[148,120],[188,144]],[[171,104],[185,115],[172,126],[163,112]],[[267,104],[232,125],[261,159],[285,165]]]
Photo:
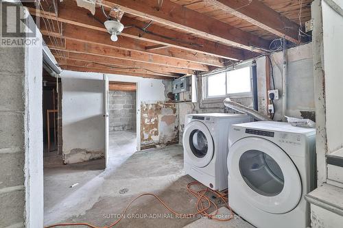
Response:
[[[335,1],[343,7],[342,1]],[[343,17],[322,1],[327,153],[343,152]],[[342,153],[341,152],[341,153]]]

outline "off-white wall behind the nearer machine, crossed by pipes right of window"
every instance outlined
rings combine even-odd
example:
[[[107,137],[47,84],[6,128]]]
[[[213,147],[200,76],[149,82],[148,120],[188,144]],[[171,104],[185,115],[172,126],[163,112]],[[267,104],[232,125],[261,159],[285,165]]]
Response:
[[[274,68],[275,87],[279,90],[280,99],[274,101],[274,120],[281,120],[282,114],[282,71],[283,52],[279,51],[271,56]],[[301,111],[314,112],[314,71],[312,58],[312,44],[300,45],[287,50],[287,110],[286,115],[303,118]],[[265,57],[257,59],[257,83],[259,89],[259,111],[265,112],[267,97],[265,90]],[[262,88],[261,88],[262,86]],[[272,78],[270,78],[272,90]]]

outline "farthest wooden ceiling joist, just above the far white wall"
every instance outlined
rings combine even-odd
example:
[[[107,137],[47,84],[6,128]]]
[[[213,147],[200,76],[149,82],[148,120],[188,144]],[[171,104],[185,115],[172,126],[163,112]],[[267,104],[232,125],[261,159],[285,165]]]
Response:
[[[134,77],[146,77],[146,78],[154,78],[154,79],[173,79],[173,77],[166,77],[166,76],[158,76],[158,75],[144,75],[140,73],[132,73],[132,72],[124,72],[124,71],[111,71],[102,68],[86,68],[80,66],[63,66],[64,70],[67,71],[80,71],[80,72],[93,72],[93,73],[107,73],[113,75],[128,75]]]

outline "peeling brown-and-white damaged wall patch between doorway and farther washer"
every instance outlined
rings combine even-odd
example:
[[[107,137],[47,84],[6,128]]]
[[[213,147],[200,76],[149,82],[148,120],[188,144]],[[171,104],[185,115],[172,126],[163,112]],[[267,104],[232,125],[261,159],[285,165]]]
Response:
[[[178,143],[175,103],[141,103],[141,148]]]

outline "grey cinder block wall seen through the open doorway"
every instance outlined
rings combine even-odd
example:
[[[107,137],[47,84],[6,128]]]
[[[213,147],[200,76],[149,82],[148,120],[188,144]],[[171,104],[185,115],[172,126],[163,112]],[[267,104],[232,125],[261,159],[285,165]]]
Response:
[[[110,131],[136,129],[136,91],[110,91]]]

